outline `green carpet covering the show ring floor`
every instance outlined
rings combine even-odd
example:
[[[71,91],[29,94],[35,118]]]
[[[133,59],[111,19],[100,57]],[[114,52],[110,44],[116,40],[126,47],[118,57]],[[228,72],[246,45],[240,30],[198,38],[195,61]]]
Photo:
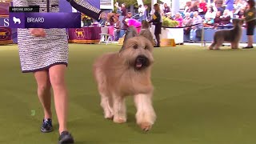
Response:
[[[105,120],[92,77],[94,58],[120,46],[70,45],[66,80],[68,126],[80,144],[253,144],[256,143],[256,50],[206,50],[199,46],[154,49],[153,129],[135,124],[132,98],[128,122]],[[57,143],[42,134],[42,108],[32,74],[22,74],[17,46],[0,46],[0,143]],[[54,109],[53,109],[54,110]]]

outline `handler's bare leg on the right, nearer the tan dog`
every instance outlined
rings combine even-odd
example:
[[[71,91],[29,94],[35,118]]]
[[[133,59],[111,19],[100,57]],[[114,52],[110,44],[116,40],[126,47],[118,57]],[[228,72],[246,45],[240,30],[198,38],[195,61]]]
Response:
[[[59,133],[66,131],[68,95],[65,83],[66,65],[55,65],[49,69],[50,83],[54,90],[55,110],[58,117]]]

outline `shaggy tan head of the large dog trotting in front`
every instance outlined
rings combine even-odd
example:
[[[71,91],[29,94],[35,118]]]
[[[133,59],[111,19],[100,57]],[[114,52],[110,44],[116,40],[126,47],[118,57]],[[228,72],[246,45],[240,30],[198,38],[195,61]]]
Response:
[[[134,70],[146,70],[154,62],[153,48],[146,35],[138,35],[135,27],[130,26],[119,55]]]

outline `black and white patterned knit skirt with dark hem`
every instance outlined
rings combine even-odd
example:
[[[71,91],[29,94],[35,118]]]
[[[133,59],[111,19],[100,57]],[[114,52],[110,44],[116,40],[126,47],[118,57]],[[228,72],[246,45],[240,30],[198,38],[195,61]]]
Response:
[[[23,73],[48,70],[50,66],[68,64],[66,30],[48,29],[46,37],[34,37],[27,29],[18,30],[18,51]]]

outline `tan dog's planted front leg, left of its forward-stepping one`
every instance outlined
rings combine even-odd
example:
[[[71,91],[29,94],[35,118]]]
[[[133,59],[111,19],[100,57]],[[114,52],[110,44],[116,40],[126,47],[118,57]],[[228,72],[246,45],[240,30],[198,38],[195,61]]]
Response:
[[[126,122],[126,101],[125,98],[119,95],[113,95],[114,102],[114,119],[116,123]]]

